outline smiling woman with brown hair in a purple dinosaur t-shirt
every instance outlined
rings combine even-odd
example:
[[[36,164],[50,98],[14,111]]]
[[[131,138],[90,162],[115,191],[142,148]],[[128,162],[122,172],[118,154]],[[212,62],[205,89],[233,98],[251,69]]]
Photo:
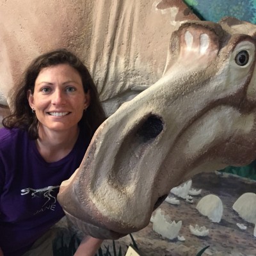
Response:
[[[105,119],[87,68],[65,49],[29,65],[10,106],[0,130],[0,256],[28,252],[64,216],[60,184]],[[75,255],[95,255],[101,242],[86,236]]]

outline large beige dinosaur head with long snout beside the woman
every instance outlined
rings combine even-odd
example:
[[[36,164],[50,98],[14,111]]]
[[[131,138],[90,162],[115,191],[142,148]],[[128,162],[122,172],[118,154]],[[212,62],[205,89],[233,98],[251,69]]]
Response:
[[[58,201],[77,227],[125,236],[191,175],[255,159],[255,32],[230,18],[173,33],[163,77],[99,127],[61,185]]]

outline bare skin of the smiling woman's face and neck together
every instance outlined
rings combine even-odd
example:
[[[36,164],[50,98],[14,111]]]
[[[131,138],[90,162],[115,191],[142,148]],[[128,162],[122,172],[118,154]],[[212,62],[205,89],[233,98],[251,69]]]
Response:
[[[41,156],[47,162],[67,156],[79,134],[77,124],[90,105],[90,92],[84,92],[79,73],[68,64],[43,68],[34,93],[28,91],[28,101],[39,122],[36,145]]]

